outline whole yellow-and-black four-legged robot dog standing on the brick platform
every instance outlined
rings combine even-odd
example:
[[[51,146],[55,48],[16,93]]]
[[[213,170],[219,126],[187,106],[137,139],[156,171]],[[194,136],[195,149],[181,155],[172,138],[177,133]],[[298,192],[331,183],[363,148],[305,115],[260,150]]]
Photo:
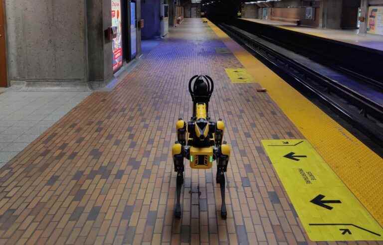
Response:
[[[175,216],[181,217],[181,188],[184,183],[184,158],[190,161],[194,169],[209,169],[217,160],[216,182],[221,189],[221,217],[226,219],[225,175],[230,156],[230,147],[222,142],[225,124],[221,119],[210,121],[208,105],[214,90],[213,80],[209,76],[194,76],[189,81],[189,92],[193,101],[193,116],[186,123],[177,122],[177,141],[173,146],[174,170],[177,172],[177,204]]]

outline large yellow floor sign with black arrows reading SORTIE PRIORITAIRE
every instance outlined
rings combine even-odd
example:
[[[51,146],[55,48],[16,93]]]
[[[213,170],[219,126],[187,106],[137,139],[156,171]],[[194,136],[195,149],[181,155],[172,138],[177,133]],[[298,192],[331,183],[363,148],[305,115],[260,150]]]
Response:
[[[383,240],[382,227],[307,140],[262,144],[310,240]]]

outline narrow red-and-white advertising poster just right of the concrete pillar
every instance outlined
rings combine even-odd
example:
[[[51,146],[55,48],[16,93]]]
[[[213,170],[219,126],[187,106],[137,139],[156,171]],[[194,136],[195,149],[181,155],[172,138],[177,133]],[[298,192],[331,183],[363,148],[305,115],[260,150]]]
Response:
[[[121,0],[112,0],[112,26],[117,26],[117,37],[112,41],[113,72],[122,66]]]

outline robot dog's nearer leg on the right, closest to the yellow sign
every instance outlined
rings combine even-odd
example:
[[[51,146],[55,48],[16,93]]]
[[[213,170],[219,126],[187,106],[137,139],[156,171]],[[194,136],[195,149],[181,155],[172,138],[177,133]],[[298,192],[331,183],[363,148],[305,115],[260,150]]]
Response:
[[[223,141],[223,144],[218,148],[217,157],[217,182],[220,184],[221,189],[221,217],[226,219],[226,203],[225,203],[225,172],[227,171],[227,164],[230,157],[230,147]]]

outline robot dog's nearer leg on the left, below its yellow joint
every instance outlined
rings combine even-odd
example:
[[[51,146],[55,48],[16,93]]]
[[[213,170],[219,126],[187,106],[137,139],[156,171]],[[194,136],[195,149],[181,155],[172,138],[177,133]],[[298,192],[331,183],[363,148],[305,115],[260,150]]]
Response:
[[[176,141],[173,145],[173,161],[174,161],[174,171],[177,172],[177,203],[175,209],[175,216],[181,218],[181,191],[182,184],[184,183],[184,152],[183,146],[181,143]]]

